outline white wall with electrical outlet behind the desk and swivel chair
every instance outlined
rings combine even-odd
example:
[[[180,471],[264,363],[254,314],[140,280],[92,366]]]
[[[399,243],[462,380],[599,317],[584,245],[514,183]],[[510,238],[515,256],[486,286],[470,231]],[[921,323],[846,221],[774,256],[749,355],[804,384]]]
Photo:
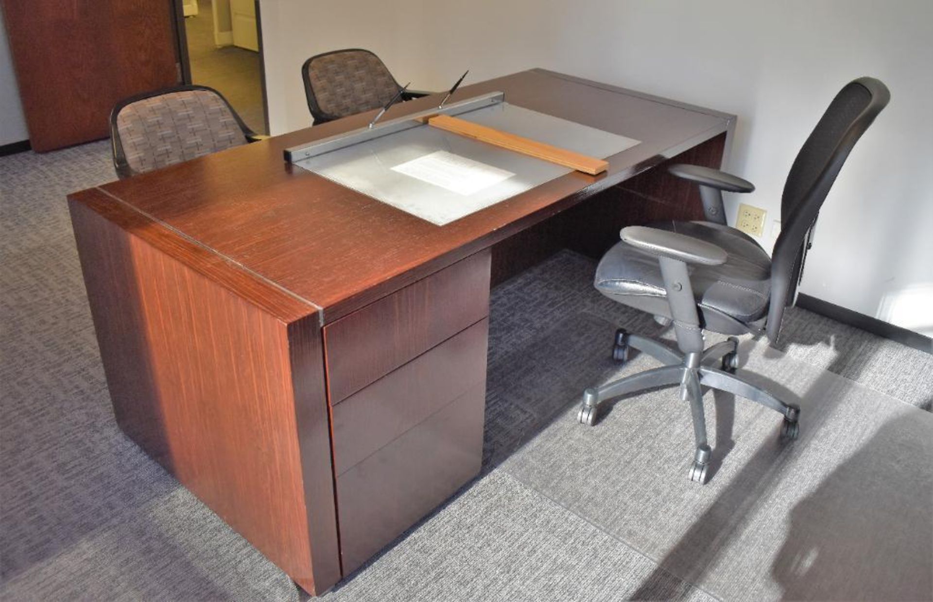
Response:
[[[445,89],[540,66],[739,116],[731,164],[758,185],[766,249],[793,157],[832,96],[874,75],[892,102],[825,205],[802,291],[933,335],[930,0],[262,0],[274,133],[311,123],[301,63],[369,48],[397,79]],[[469,83],[467,80],[467,83]],[[727,199],[734,217],[736,196]]]

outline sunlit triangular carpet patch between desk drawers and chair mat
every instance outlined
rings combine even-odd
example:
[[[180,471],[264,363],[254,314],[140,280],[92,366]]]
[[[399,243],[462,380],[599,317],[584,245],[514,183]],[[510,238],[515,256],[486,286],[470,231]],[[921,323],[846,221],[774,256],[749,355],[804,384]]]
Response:
[[[714,599],[490,472],[323,600]]]

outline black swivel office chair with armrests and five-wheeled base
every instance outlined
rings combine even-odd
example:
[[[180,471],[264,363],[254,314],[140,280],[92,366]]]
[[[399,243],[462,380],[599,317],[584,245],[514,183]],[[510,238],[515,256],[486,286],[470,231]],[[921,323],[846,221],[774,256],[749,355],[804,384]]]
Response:
[[[703,387],[723,390],[769,407],[784,416],[781,439],[797,438],[800,407],[736,376],[738,339],[703,349],[703,330],[723,335],[767,333],[776,342],[784,308],[792,306],[803,259],[811,246],[816,215],[842,163],[868,129],[890,94],[877,79],[860,77],[836,95],[801,147],[787,174],[781,198],[781,234],[769,259],[754,239],[726,226],[722,191],[751,192],[742,178],[709,168],[674,165],[669,171],[700,186],[703,222],[664,222],[629,226],[621,241],[596,268],[595,287],[610,299],[674,323],[679,352],[620,329],[613,357],[644,351],[664,365],[626,376],[583,393],[578,420],[592,426],[599,404],[657,387],[679,385],[689,402],[696,439],[689,478],[706,482],[710,447],[706,443]]]

